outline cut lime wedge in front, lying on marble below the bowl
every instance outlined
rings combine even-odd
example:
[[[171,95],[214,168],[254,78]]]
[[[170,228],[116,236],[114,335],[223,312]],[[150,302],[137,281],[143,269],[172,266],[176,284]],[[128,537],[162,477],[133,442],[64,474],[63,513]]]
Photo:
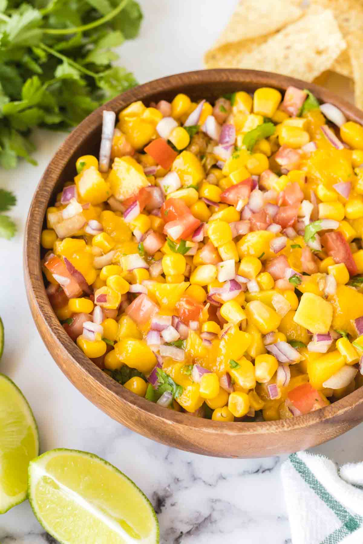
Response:
[[[159,524],[144,493],[97,455],[54,449],[29,463],[29,501],[63,544],[157,544]]]

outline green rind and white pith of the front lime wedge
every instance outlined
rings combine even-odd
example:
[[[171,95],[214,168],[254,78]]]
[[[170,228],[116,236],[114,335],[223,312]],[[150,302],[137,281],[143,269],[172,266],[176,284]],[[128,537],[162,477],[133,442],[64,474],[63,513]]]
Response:
[[[124,528],[121,527],[121,525],[115,520],[115,518],[112,515],[109,515],[109,512],[106,512],[100,508],[97,508],[94,504],[90,504],[86,499],[84,499],[82,496],[80,496],[79,493],[75,492],[74,490],[70,489],[69,486],[65,486],[59,479],[54,478],[54,474],[50,474],[46,467],[52,459],[56,459],[57,456],[64,456],[66,454],[70,455],[79,455],[83,457],[86,460],[93,460],[96,462],[101,463],[103,467],[108,467],[110,471],[112,471],[115,475],[115,477],[121,477],[127,482],[129,485],[131,484],[133,487],[133,490],[136,490],[138,495],[142,497],[143,502],[145,505],[147,505],[147,508],[149,510],[149,515],[152,517],[152,521],[154,524],[154,531],[153,534],[150,535],[150,537],[146,538],[134,538],[130,534],[128,534]],[[94,473],[95,479],[97,479],[97,472],[95,469]],[[48,522],[44,515],[41,514],[40,509],[38,508],[38,499],[37,499],[37,487],[38,483],[41,479],[48,479],[52,481],[52,486],[57,487],[57,491],[63,494],[67,497],[67,499],[73,500],[75,505],[78,507],[83,508],[85,511],[87,511],[87,514],[89,515],[89,519],[92,520],[99,520],[100,523],[103,523],[104,526],[109,528],[110,530],[114,531],[115,535],[119,536],[119,539],[112,540],[112,542],[122,543],[122,544],[158,544],[159,542],[159,524],[158,520],[155,514],[155,511],[153,510],[152,504],[150,503],[149,499],[145,496],[145,494],[139,489],[139,487],[134,484],[134,482],[128,478],[124,473],[122,473],[118,468],[111,465],[108,461],[101,459],[99,456],[95,454],[91,454],[88,452],[82,452],[81,450],[71,450],[71,449],[65,449],[65,448],[58,448],[53,449],[50,452],[46,452],[42,455],[40,455],[38,458],[33,459],[29,463],[28,468],[28,498],[30,505],[32,506],[33,512],[35,517],[38,519],[39,523],[44,527],[44,529],[47,531],[47,533],[51,534],[56,540],[60,542],[60,544],[81,544],[81,542],[73,539],[70,537],[70,539],[64,540],[63,536],[57,532],[57,530],[54,528],[53,524]],[[102,490],[104,492],[104,489]],[[122,489],[120,489],[120,493],[123,493]],[[101,490],[100,490],[101,494]],[[48,501],[47,506],[50,505],[51,498]],[[50,507],[51,508],[51,507]],[[47,512],[48,508],[46,509]],[[72,520],[74,521],[74,513],[72,512]],[[57,520],[58,523],[59,520]],[[65,523],[66,523],[66,517],[65,517]],[[126,523],[127,526],[127,523]],[[83,531],[83,528],[82,528]],[[86,533],[87,527],[84,527],[84,531]],[[84,542],[90,542],[94,543],[95,540],[88,540],[88,537],[84,533],[85,540]],[[97,542],[100,542],[97,540]],[[103,540],[102,540],[103,542]],[[105,540],[106,542],[106,540]]]

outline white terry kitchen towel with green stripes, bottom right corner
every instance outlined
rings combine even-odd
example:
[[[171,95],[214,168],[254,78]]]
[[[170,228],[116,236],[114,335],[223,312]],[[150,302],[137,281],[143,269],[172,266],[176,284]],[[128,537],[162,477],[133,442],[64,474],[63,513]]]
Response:
[[[281,474],[292,544],[363,544],[363,462],[299,452]]]

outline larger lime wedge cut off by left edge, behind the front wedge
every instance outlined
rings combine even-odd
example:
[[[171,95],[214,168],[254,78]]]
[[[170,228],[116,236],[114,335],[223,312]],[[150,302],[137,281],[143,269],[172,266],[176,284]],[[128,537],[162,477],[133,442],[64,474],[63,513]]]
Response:
[[[26,499],[29,461],[38,454],[32,410],[20,389],[0,374],[0,514]]]

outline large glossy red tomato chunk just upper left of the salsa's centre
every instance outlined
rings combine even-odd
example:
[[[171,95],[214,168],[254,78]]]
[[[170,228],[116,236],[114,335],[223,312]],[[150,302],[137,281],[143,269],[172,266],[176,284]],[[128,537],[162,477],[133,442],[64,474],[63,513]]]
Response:
[[[168,234],[173,240],[179,238],[186,240],[192,236],[195,229],[200,225],[199,219],[194,217],[186,203],[181,199],[165,200],[161,207],[161,217],[166,223],[164,233]]]

